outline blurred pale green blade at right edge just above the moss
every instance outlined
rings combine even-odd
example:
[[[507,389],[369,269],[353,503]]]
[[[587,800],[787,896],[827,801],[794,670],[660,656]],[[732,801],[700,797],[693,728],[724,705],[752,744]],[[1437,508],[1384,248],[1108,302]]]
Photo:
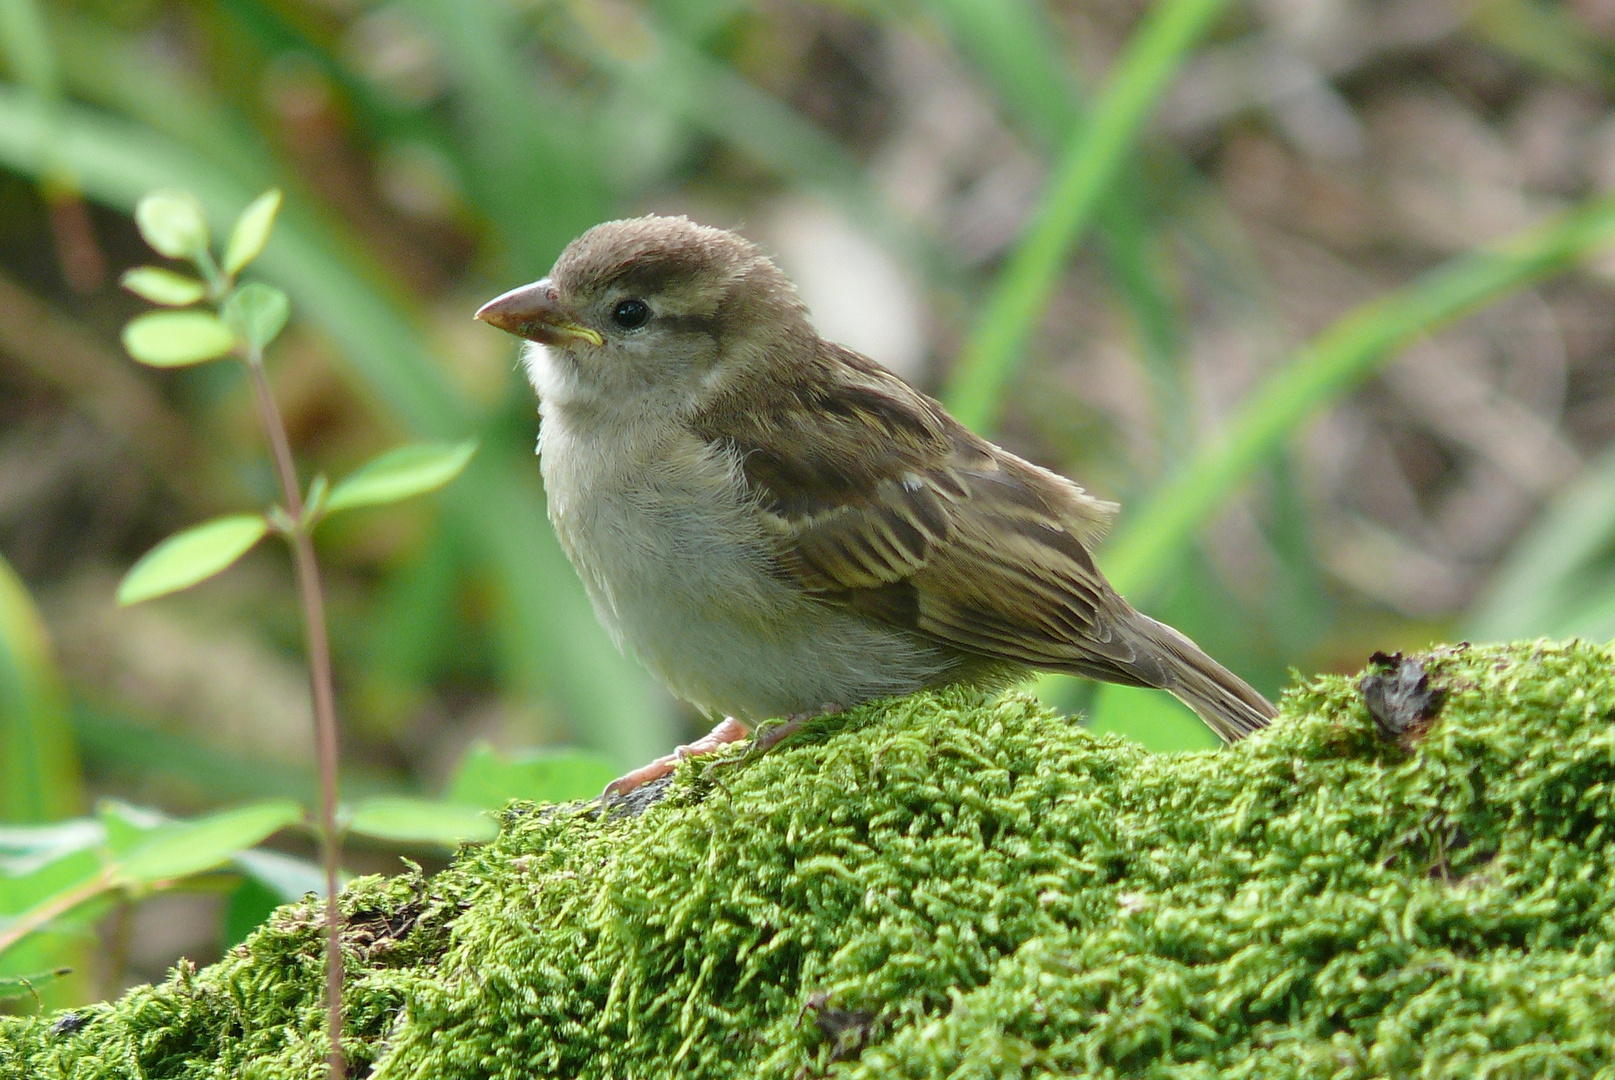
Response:
[[[1602,623],[1600,597],[1588,596],[1589,570],[1615,547],[1615,450],[1588,463],[1581,476],[1515,542],[1476,602],[1465,634],[1515,641],[1560,634],[1571,622]]]

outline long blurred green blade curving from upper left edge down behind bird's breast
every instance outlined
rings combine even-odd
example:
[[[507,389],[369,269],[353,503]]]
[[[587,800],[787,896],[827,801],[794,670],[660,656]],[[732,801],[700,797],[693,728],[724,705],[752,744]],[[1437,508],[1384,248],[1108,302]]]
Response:
[[[63,105],[55,113],[57,150],[78,171],[84,192],[129,211],[147,190],[194,192],[215,224],[228,224],[263,189],[245,182],[158,132]],[[0,163],[37,176],[45,115],[26,95],[0,86]],[[412,315],[331,241],[329,223],[287,192],[275,242],[258,271],[284,287],[297,316],[331,341],[360,389],[386,405],[420,437],[465,437],[472,408],[426,352]],[[362,263],[360,263],[362,266]],[[470,312],[467,312],[470,318]],[[594,620],[583,588],[544,518],[531,442],[505,452],[483,439],[444,504],[468,525],[478,554],[497,580],[505,604],[502,641],[528,688],[552,693],[577,722],[578,741],[640,764],[675,741],[672,720],[646,676],[625,660]],[[502,446],[509,446],[509,439]]]

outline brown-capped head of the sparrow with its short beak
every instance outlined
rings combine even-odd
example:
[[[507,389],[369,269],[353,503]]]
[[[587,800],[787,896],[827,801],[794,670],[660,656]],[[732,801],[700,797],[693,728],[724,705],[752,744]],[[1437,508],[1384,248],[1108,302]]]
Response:
[[[698,407],[816,341],[795,286],[754,244],[688,218],[598,224],[547,278],[476,318],[536,342],[528,376],[557,405]]]

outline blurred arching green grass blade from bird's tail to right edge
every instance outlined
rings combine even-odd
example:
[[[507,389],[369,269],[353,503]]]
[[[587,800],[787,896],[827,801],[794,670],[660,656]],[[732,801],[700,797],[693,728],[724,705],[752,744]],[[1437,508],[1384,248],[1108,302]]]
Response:
[[[1494,247],[1454,258],[1408,287],[1371,300],[1315,337],[1258,386],[1105,546],[1121,592],[1153,588],[1200,525],[1302,423],[1347,394],[1399,349],[1499,295],[1615,241],[1615,200],[1597,200]]]

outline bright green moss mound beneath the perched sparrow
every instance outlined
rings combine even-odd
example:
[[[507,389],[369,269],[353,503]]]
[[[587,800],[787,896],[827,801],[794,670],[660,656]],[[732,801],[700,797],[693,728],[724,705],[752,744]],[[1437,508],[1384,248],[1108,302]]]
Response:
[[[354,1057],[472,1077],[1615,1077],[1615,676],[1457,647],[1418,741],[1355,681],[1150,756],[1022,696],[917,696],[638,817],[517,807],[365,880]],[[0,1075],[317,1075],[307,907],[223,962],[0,1022]],[[832,1061],[838,1057],[838,1061]],[[360,1070],[362,1072],[362,1070]]]

